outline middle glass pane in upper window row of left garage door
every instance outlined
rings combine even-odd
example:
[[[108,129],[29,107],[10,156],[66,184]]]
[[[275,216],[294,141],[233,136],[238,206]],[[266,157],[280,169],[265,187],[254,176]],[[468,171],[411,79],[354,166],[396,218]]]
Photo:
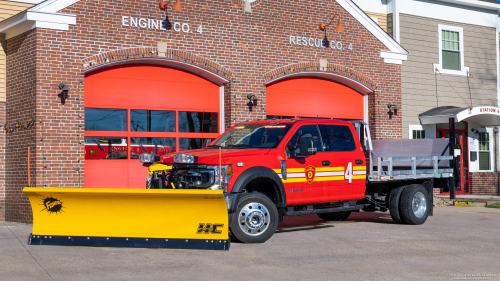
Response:
[[[175,111],[130,110],[132,132],[175,132]]]

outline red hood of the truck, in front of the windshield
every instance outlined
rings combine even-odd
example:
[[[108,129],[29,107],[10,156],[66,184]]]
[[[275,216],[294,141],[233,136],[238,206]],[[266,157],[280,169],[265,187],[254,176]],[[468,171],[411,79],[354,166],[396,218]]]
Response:
[[[225,163],[231,158],[242,158],[245,156],[258,156],[265,155],[269,152],[269,148],[245,148],[245,149],[222,149],[222,163]],[[186,153],[198,157],[198,162],[195,164],[208,164],[217,165],[219,164],[219,150],[218,149],[197,149],[182,151],[173,154],[167,154],[161,156],[161,162],[164,164],[174,164],[174,155]]]

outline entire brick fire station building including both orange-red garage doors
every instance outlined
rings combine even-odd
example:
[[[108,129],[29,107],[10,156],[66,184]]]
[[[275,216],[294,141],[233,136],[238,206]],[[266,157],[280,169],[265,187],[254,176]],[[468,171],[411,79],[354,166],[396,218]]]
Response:
[[[404,103],[408,52],[393,19],[359,1],[181,0],[166,11],[144,0],[31,2],[0,22],[6,220],[31,220],[24,186],[140,188],[138,154],[201,147],[248,119],[343,118],[367,121],[377,139],[408,133],[404,115],[386,113]]]

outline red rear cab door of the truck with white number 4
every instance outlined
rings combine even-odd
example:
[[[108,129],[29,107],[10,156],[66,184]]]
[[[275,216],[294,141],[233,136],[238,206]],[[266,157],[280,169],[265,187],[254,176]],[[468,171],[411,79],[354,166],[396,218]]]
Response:
[[[353,133],[345,125],[319,125],[324,148],[316,179],[323,183],[322,201],[361,199],[365,196],[366,162]]]

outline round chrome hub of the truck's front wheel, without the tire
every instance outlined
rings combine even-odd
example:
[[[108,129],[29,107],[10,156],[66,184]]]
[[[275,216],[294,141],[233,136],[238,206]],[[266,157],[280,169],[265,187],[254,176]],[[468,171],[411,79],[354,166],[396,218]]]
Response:
[[[241,209],[238,223],[243,232],[250,236],[264,233],[269,227],[271,216],[269,211],[260,203],[248,203]]]

